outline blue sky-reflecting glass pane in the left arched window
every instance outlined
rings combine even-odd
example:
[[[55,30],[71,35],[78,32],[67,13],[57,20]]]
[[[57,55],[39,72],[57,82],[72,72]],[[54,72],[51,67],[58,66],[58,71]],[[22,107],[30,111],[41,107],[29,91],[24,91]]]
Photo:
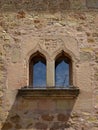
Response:
[[[46,86],[46,65],[42,61],[38,61],[33,66],[33,86]]]

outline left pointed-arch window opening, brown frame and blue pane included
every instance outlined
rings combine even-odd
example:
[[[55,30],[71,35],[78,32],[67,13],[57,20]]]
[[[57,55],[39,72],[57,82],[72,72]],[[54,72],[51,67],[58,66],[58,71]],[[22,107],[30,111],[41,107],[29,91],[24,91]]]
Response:
[[[44,55],[37,52],[30,58],[29,84],[33,88],[46,86],[46,59]]]

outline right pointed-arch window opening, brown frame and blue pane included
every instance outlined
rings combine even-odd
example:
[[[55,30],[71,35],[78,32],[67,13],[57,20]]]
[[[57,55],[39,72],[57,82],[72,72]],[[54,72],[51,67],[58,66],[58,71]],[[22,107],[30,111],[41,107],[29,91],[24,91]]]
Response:
[[[71,85],[72,62],[64,52],[55,60],[55,85],[56,87],[68,87]]]

